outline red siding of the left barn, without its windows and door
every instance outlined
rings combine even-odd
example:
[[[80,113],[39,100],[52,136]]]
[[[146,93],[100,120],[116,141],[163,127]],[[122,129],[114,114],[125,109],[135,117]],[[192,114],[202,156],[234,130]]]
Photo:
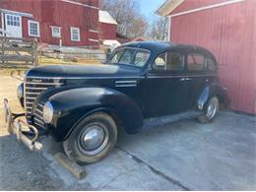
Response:
[[[98,6],[97,0],[81,0],[92,6]],[[61,39],[63,45],[84,46],[97,45],[89,40],[89,30],[98,29],[98,10],[70,4],[62,1],[52,0],[1,0],[0,7],[13,11],[31,13],[32,20],[39,22],[39,41],[49,44],[59,44],[59,39],[52,37],[50,26],[61,27]],[[31,20],[31,19],[30,19]],[[80,29],[80,41],[71,41],[70,28]],[[28,18],[23,17],[23,36],[29,37]],[[95,36],[98,39],[98,36]]]

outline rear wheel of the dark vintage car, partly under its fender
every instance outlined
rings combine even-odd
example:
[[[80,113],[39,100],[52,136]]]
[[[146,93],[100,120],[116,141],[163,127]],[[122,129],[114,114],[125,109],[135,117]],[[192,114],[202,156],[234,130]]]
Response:
[[[207,103],[205,114],[198,117],[200,123],[210,123],[214,120],[219,112],[219,99],[217,96],[212,96]]]

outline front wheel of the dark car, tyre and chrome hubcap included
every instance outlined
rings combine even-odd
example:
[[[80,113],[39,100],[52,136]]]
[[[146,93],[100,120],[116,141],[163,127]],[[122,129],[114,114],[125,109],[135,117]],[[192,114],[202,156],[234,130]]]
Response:
[[[64,141],[66,155],[79,163],[102,160],[114,147],[117,127],[110,115],[96,112],[83,119]]]

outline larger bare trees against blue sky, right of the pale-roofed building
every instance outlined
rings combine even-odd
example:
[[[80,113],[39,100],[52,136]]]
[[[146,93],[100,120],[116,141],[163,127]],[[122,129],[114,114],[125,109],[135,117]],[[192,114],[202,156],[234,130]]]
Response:
[[[135,0],[100,0],[100,9],[107,11],[117,22],[117,32],[135,38],[144,35],[148,23],[140,14],[139,5]]]

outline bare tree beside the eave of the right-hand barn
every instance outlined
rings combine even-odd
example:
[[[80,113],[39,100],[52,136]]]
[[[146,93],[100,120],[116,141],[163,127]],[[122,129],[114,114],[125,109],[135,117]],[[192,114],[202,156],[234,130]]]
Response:
[[[164,17],[157,17],[151,23],[148,35],[155,40],[167,40],[168,20]]]

